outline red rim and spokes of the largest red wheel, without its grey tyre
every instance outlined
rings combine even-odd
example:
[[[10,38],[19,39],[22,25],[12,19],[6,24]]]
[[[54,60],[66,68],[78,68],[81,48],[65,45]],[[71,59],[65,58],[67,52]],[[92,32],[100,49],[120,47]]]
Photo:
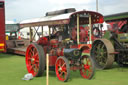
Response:
[[[33,45],[29,45],[26,51],[26,66],[29,73],[33,76],[38,74],[39,70],[39,55],[37,49]]]

